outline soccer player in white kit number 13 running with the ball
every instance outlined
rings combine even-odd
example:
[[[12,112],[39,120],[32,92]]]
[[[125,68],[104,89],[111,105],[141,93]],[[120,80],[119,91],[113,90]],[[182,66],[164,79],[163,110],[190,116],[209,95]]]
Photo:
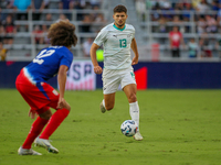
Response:
[[[126,24],[126,7],[119,4],[114,8],[114,23],[103,28],[97,34],[91,47],[91,58],[94,65],[94,73],[102,74],[104,99],[101,102],[101,111],[112,110],[115,103],[115,92],[120,85],[129,102],[129,113],[131,120],[139,125],[139,106],[137,102],[137,85],[135,80],[134,68],[131,65],[138,63],[138,50],[135,40],[135,29]],[[104,70],[96,59],[96,51],[103,44],[104,46]],[[130,58],[130,48],[135,56]],[[141,141],[139,132],[134,136],[135,140]]]

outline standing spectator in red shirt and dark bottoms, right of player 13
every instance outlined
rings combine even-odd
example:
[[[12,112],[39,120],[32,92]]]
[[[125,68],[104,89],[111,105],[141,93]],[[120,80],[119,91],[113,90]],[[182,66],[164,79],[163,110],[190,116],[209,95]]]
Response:
[[[178,26],[172,28],[172,31],[169,33],[169,41],[172,57],[180,57],[180,43],[185,45],[185,41]]]

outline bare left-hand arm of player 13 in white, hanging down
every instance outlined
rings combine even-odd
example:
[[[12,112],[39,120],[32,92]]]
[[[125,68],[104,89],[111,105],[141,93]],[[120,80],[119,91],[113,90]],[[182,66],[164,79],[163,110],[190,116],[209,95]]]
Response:
[[[99,46],[97,44],[93,43],[90,53],[91,53],[92,63],[94,65],[94,73],[99,75],[99,74],[102,74],[103,70],[102,70],[102,67],[98,65],[97,59],[96,59],[97,48],[99,48]]]

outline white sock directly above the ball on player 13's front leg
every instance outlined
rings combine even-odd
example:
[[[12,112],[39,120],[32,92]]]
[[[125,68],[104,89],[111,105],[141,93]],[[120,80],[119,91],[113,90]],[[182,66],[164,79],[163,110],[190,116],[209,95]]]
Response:
[[[137,131],[139,131],[139,106],[137,101],[129,103],[129,114],[131,117],[131,120],[134,120],[138,124]]]

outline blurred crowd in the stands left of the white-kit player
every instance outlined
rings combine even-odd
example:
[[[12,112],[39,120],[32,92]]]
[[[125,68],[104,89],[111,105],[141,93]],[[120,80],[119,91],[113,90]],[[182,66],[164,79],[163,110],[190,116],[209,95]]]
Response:
[[[72,18],[72,10],[99,10],[102,0],[4,0],[0,1],[0,43],[12,45],[17,32],[29,32],[29,25],[19,24],[19,21],[29,20],[29,11],[32,10],[32,21],[44,21],[48,23],[33,24],[35,44],[49,44],[46,33],[50,23],[57,20],[69,19],[70,21],[82,22],[80,32],[96,32],[92,29],[92,22],[105,22],[102,13],[77,13],[77,18]],[[60,10],[60,14],[53,12],[45,13],[45,9]],[[8,12],[4,12],[8,10]],[[66,12],[67,11],[67,12]],[[17,23],[15,23],[17,22]],[[87,38],[85,38],[86,42]],[[83,43],[82,43],[83,44]],[[2,47],[2,46],[1,46]]]

